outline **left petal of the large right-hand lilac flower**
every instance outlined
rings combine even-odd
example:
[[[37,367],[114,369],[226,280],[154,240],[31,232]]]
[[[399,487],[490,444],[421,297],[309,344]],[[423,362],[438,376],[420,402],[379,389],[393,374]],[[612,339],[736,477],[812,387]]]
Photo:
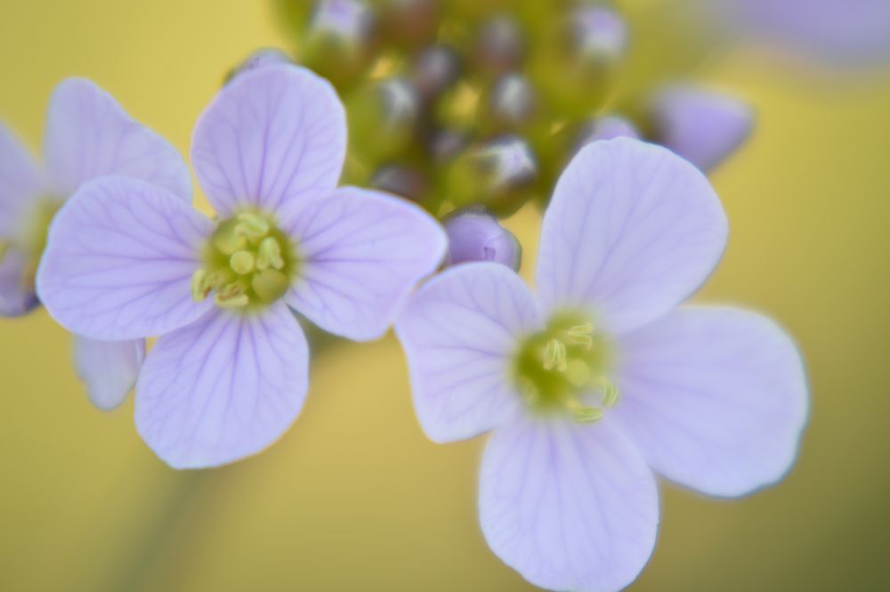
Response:
[[[511,355],[543,324],[530,289],[501,264],[452,267],[411,298],[395,330],[417,418],[433,442],[473,437],[521,410]]]

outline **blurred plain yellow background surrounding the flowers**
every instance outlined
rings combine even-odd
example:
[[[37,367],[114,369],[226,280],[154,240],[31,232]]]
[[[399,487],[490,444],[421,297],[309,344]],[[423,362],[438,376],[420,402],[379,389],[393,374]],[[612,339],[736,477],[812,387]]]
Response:
[[[284,43],[261,0],[0,4],[0,118],[37,148],[62,77],[91,77],[187,153],[251,50]],[[637,591],[890,589],[890,84],[794,82],[740,55],[706,73],[758,109],[713,176],[732,235],[701,299],[769,312],[813,390],[799,463],[750,499],[667,485]],[[538,214],[511,221],[534,259]],[[482,440],[428,442],[392,337],[316,360],[294,428],[257,458],[177,473],[132,401],[94,410],[45,312],[0,320],[0,589],[534,589],[475,516]]]

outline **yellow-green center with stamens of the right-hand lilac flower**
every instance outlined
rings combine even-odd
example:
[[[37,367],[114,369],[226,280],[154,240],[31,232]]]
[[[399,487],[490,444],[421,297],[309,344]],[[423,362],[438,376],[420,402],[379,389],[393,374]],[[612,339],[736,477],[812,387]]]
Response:
[[[530,410],[564,411],[579,422],[603,418],[619,400],[606,378],[611,347],[584,314],[555,314],[514,357],[514,382]]]

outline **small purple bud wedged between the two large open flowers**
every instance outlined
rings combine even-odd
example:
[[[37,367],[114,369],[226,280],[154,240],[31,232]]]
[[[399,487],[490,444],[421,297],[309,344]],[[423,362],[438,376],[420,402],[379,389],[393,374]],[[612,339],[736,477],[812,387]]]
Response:
[[[490,261],[519,271],[522,247],[493,215],[463,210],[450,215],[444,226],[449,239],[447,265]]]

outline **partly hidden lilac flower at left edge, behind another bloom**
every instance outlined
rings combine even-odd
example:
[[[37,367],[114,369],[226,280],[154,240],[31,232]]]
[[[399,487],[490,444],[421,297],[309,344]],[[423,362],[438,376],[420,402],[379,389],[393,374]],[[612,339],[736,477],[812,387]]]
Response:
[[[62,81],[53,92],[37,165],[0,125],[0,315],[18,316],[38,303],[34,288],[53,215],[83,183],[105,174],[151,182],[191,200],[189,170],[166,140],[128,116],[92,82]],[[142,340],[75,338],[75,363],[91,401],[116,407],[136,380]]]

